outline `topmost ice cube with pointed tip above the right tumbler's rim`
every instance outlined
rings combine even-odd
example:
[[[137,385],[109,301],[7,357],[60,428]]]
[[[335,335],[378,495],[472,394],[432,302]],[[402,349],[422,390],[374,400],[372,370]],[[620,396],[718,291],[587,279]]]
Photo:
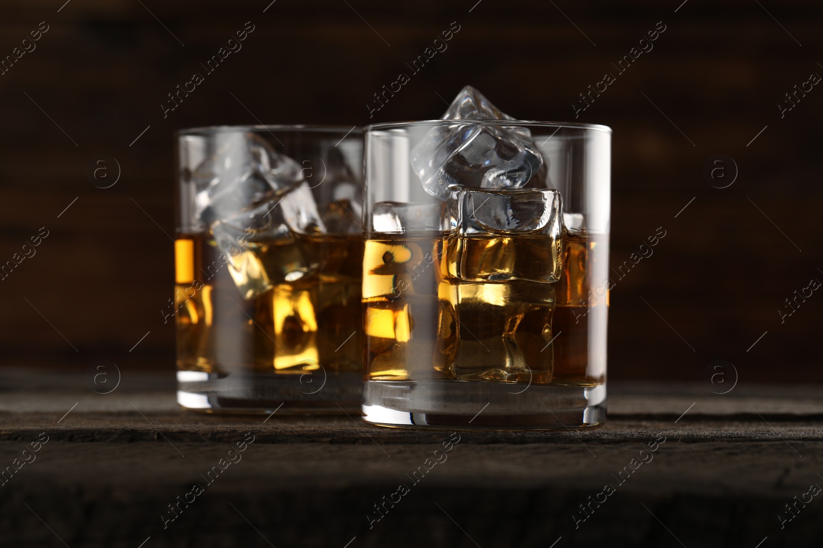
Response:
[[[444,120],[512,120],[467,85]],[[449,187],[504,189],[523,187],[543,159],[525,127],[455,123],[432,128],[412,150],[410,163],[423,188],[446,200]]]

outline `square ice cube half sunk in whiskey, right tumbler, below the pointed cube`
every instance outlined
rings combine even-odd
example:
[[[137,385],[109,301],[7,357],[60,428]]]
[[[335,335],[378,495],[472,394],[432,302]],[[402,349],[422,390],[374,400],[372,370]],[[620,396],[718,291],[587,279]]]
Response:
[[[460,237],[449,274],[467,281],[553,283],[562,271],[560,192],[459,193]]]

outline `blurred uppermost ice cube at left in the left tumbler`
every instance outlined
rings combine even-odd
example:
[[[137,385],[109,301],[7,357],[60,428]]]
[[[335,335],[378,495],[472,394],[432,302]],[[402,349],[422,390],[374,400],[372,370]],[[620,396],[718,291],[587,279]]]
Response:
[[[194,169],[195,215],[206,226],[275,196],[301,179],[300,164],[253,133],[217,132],[216,152]]]

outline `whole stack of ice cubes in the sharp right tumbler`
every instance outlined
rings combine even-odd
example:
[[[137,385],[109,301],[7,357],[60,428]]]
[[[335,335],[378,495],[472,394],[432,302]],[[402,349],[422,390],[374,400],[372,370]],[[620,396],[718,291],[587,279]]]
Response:
[[[374,205],[375,232],[439,230],[448,244],[439,282],[444,352],[461,380],[551,378],[551,315],[561,274],[560,193],[546,188],[527,127],[466,86],[410,153],[434,204]],[[490,121],[490,122],[483,122]],[[414,311],[412,311],[412,314]],[[414,334],[412,334],[412,338]],[[534,370],[534,371],[532,371]]]

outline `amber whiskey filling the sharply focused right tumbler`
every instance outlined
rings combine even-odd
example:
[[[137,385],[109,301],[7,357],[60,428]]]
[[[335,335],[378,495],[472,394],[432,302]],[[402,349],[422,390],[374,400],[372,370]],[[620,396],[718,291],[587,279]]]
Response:
[[[365,242],[368,380],[602,383],[590,363],[594,237],[426,233]],[[601,312],[602,311],[602,312]],[[605,361],[604,361],[605,363]]]

